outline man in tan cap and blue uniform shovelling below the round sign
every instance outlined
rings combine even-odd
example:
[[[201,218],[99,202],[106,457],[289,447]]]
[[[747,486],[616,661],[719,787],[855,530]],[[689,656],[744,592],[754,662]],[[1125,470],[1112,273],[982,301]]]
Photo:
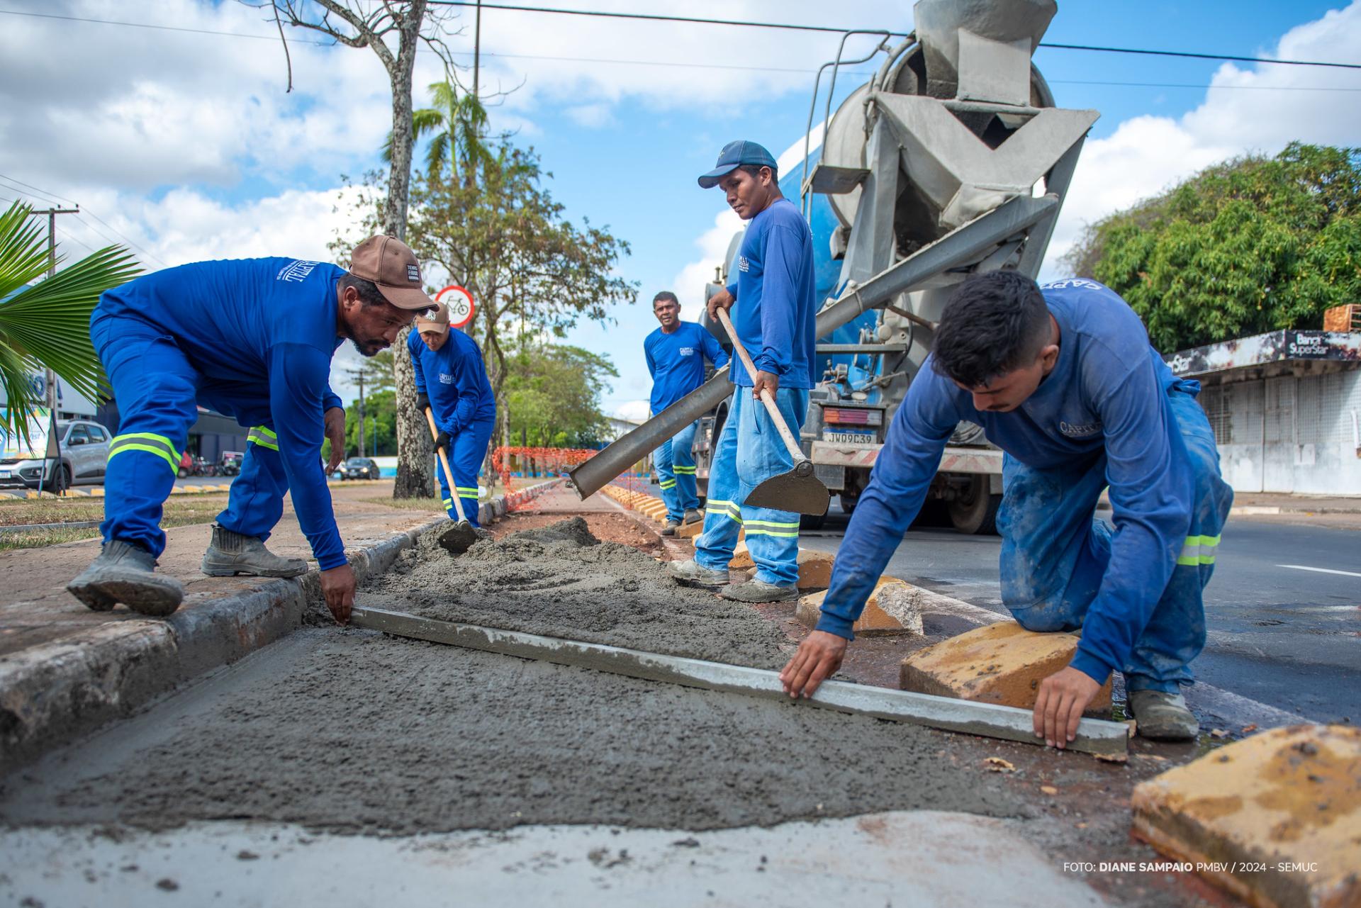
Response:
[[[476,527],[478,474],[497,423],[497,400],[482,363],[482,348],[476,340],[449,327],[449,310],[444,306],[438,306],[433,317],[416,317],[407,348],[415,366],[416,408],[434,414],[440,433],[434,447],[444,448],[453,471],[450,481],[436,459],[444,509],[457,520],[453,496],[459,496],[464,516]]]

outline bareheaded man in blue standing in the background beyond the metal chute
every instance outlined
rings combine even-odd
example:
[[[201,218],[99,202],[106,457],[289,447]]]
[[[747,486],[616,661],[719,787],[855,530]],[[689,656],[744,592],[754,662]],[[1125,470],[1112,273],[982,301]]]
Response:
[[[652,374],[652,415],[657,415],[680,398],[704,384],[704,361],[716,369],[728,363],[713,335],[694,321],[680,321],[680,301],[670,290],[652,298],[652,314],[661,324],[642,342],[642,353]],[[661,501],[667,505],[667,524],[663,536],[674,536],[682,523],[704,520],[700,513],[700,494],[695,489],[694,433],[695,419],[652,455],[661,486]]]

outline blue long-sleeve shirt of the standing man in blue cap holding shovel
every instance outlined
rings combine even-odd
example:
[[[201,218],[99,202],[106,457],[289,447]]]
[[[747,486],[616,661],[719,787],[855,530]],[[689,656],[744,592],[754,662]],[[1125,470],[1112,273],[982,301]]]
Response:
[[[788,199],[777,199],[747,225],[738,249],[732,327],[758,372],[780,378],[781,388],[811,388],[817,343],[817,280],[813,231]],[[731,275],[729,275],[731,276]],[[734,368],[734,384],[751,387],[751,376]]]

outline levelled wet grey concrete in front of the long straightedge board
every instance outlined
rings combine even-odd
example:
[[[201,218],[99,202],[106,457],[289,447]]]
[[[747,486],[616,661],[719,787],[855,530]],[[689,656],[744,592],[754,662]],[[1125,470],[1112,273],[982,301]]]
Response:
[[[1019,815],[966,739],[382,637],[306,629],[4,781],[8,825],[263,820],[406,834],[670,829],[871,810]],[[966,757],[965,757],[966,758]]]

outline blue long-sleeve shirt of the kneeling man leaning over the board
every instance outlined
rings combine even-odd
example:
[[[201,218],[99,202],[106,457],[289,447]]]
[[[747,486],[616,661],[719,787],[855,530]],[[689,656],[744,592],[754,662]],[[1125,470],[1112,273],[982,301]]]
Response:
[[[879,573],[921,508],[946,441],[961,419],[1036,468],[1106,455],[1115,519],[1111,564],[1082,626],[1072,666],[1098,682],[1119,671],[1172,577],[1194,508],[1168,388],[1195,392],[1149,344],[1139,317],[1093,280],[1043,287],[1059,324],[1059,359],[1011,412],[980,412],[973,398],[927,357],[889,427],[832,572],[819,630],[852,637]]]

